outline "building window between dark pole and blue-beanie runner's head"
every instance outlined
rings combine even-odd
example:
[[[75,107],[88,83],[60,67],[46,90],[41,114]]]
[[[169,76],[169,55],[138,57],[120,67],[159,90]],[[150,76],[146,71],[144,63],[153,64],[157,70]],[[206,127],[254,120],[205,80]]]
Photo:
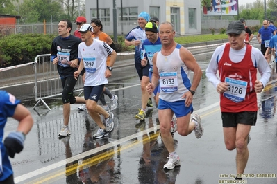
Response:
[[[121,21],[121,8],[117,8],[118,25],[137,25],[137,11],[137,7],[122,8],[123,20]]]

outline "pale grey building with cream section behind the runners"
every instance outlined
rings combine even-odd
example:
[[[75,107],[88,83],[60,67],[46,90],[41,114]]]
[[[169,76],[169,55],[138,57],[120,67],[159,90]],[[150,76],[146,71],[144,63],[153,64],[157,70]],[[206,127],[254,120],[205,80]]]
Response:
[[[113,14],[114,1],[116,16]],[[198,0],[85,0],[87,22],[98,17],[103,31],[108,34],[114,33],[115,23],[117,34],[126,35],[138,26],[137,15],[142,11],[148,12],[150,17],[158,17],[160,22],[170,21],[176,35],[201,33],[201,4]]]

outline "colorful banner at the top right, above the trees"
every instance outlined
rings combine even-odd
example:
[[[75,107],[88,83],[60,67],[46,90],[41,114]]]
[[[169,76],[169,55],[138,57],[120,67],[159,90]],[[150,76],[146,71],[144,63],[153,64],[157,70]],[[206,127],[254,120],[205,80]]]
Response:
[[[211,0],[203,7],[203,16],[238,15],[238,0]]]

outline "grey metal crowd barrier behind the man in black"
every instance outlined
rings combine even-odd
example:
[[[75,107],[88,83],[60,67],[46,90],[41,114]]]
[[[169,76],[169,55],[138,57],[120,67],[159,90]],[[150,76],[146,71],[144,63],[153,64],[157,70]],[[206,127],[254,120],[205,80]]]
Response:
[[[58,75],[57,66],[51,62],[51,55],[37,55],[35,57],[35,101],[37,103],[33,107],[42,102],[47,109],[51,110],[45,98],[53,98],[62,95],[62,82],[60,81],[60,75]],[[75,85],[74,92],[83,92],[82,77],[78,78]]]

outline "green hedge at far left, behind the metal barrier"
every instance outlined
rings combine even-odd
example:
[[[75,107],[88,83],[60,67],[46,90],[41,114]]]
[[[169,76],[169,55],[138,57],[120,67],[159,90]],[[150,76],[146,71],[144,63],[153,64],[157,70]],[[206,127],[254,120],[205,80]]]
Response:
[[[33,62],[37,55],[50,53],[56,35],[14,34],[0,39],[0,68]]]

